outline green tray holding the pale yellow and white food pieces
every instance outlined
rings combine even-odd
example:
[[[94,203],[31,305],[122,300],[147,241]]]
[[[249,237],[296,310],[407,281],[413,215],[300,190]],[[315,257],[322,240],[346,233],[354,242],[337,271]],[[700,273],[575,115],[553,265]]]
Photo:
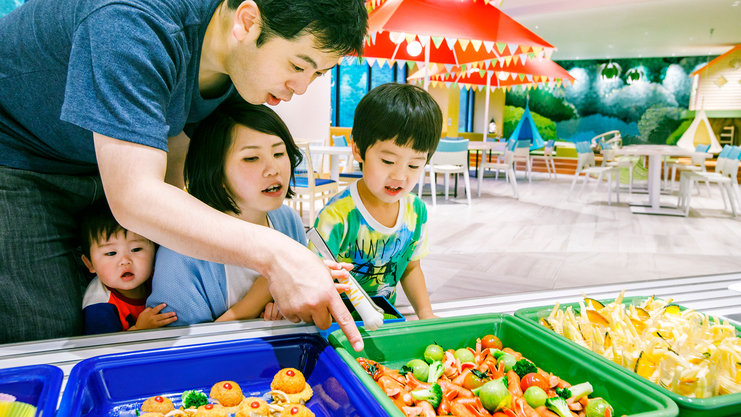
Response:
[[[634,301],[639,302],[648,299],[649,297],[625,297],[623,298],[623,304],[631,304]],[[615,301],[614,298],[612,299],[606,299],[606,300],[599,300],[603,304],[609,304],[613,301]],[[674,303],[672,303],[674,304]],[[565,309],[567,307],[571,306],[572,309],[574,309],[575,312],[579,311],[579,303],[570,303],[570,304],[561,304],[559,308]],[[687,307],[679,306],[680,310],[686,310]],[[663,395],[666,395],[667,397],[671,398],[674,402],[677,403],[679,406],[679,415],[682,417],[725,417],[725,416],[734,416],[734,415],[741,415],[741,393],[736,394],[728,394],[728,395],[720,395],[717,397],[712,398],[689,398],[685,397],[683,395],[675,394],[668,389],[658,385],[654,384],[653,382],[636,375],[633,371],[623,368],[622,366],[608,360],[607,358],[604,358],[602,355],[599,355],[597,353],[592,352],[591,350],[579,346],[575,342],[572,342],[571,340],[555,333],[552,330],[546,329],[542,324],[540,324],[538,312],[544,311],[544,310],[552,310],[553,306],[542,306],[542,307],[530,307],[530,308],[523,308],[520,310],[517,310],[515,312],[515,317],[519,317],[528,323],[535,326],[541,333],[549,335],[551,337],[555,337],[558,340],[561,340],[563,342],[566,342],[569,344],[571,349],[578,349],[580,352],[587,354],[591,356],[592,358],[596,358],[605,364],[608,364],[610,367],[616,369],[617,371],[627,375],[628,377],[632,378],[634,381],[638,381],[639,383],[643,384],[644,386],[650,388],[651,390],[661,393]],[[733,326],[736,328],[736,334],[741,334],[741,327],[733,324]]]

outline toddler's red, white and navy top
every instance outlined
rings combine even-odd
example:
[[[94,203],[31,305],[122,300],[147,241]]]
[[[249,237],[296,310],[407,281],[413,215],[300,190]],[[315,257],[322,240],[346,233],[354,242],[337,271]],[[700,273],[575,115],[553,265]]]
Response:
[[[151,293],[151,283],[150,279],[144,284],[147,286],[147,296]],[[147,308],[146,302],[147,297],[133,299],[114,288],[108,288],[96,276],[88,285],[82,300],[85,334],[128,330]]]

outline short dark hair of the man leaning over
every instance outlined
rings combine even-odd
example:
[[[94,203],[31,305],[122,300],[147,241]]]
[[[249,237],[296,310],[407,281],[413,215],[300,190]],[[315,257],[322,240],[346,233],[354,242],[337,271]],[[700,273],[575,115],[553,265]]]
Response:
[[[244,0],[227,0],[236,10]],[[368,32],[363,0],[254,0],[260,9],[257,46],[273,36],[293,40],[313,35],[319,49],[339,55],[362,55]]]

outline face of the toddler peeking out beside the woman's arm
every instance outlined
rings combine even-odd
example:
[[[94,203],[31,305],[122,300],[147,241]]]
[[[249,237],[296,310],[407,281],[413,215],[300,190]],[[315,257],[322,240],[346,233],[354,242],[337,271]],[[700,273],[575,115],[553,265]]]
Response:
[[[154,243],[130,231],[124,236],[121,230],[105,242],[94,242],[90,259],[83,261],[106,286],[132,290],[152,276]]]

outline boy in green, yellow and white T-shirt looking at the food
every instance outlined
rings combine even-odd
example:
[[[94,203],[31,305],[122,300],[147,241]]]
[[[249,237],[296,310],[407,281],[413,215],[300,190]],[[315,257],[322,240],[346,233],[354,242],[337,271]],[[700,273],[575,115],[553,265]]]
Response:
[[[442,123],[440,106],[419,87],[371,90],[358,103],[352,129],[363,178],[332,198],[315,222],[369,295],[394,303],[401,283],[420,319],[435,317],[420,266],[429,252],[427,209],[409,192],[437,148]]]

